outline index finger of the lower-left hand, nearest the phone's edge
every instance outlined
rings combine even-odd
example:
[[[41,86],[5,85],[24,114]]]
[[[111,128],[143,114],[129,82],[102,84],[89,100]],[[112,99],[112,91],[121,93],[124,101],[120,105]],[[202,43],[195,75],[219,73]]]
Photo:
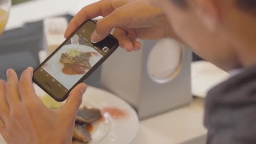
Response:
[[[21,78],[19,81],[19,93],[21,96],[21,101],[26,99],[32,99],[36,93],[35,88],[32,84],[33,77],[33,68],[29,67],[21,74]]]

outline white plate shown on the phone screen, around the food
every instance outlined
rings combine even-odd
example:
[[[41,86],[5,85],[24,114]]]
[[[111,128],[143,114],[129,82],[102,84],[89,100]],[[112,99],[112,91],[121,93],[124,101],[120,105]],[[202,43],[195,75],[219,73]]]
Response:
[[[67,89],[70,89],[78,80],[83,77],[82,75],[65,75],[61,72],[61,69],[64,67],[64,64],[59,62],[61,58],[61,53],[66,53],[70,49],[77,49],[78,51],[83,52],[95,52],[98,53],[99,56],[92,56],[90,58],[90,64],[93,67],[94,64],[96,64],[101,58],[102,55],[97,52],[94,48],[91,48],[87,45],[78,45],[78,44],[72,44],[72,45],[64,45],[49,61],[47,62],[44,69],[53,76],[56,80],[59,81],[62,85],[64,85]],[[88,69],[86,69],[88,71]]]

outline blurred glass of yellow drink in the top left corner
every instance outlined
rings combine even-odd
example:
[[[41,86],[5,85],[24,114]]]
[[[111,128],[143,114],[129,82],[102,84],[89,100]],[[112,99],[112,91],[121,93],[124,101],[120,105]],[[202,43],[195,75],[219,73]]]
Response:
[[[11,9],[11,0],[0,0],[0,35],[3,33]]]

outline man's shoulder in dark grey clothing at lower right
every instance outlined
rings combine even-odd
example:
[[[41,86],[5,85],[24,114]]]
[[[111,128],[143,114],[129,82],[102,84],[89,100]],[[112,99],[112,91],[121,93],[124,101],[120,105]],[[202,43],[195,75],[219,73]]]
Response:
[[[244,69],[208,92],[207,144],[256,144],[256,66]]]

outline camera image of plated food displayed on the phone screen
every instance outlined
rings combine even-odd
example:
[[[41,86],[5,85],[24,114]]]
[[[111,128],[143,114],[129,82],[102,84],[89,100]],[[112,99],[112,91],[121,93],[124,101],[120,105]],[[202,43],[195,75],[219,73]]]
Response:
[[[81,37],[79,39],[83,44],[63,45],[42,67],[53,80],[57,80],[66,89],[72,88],[103,57],[105,52],[102,50],[99,52],[99,48],[88,45]]]

